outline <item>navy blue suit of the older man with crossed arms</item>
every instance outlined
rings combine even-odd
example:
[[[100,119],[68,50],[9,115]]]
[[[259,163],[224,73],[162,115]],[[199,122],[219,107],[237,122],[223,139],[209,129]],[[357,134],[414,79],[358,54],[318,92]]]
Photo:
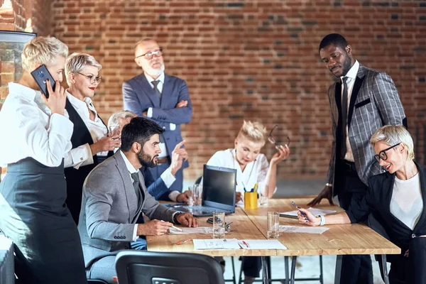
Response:
[[[163,138],[168,155],[171,158],[176,144],[182,141],[180,125],[189,123],[192,118],[192,103],[185,80],[165,75],[163,92],[160,99],[155,94],[151,84],[146,80],[145,75],[141,74],[123,83],[123,100],[124,109],[133,111],[138,116],[142,116],[143,111],[147,111],[148,108],[153,108],[151,119],[165,130]],[[176,104],[182,100],[188,102],[187,107],[176,108]],[[170,123],[176,125],[175,130],[170,130]],[[155,168],[150,168],[149,170],[154,180],[160,178],[160,175],[169,165],[170,160],[169,163],[163,163]],[[189,167],[189,163],[185,161],[182,168],[175,174],[176,181],[173,182],[170,190],[182,192],[182,171],[187,167]]]

